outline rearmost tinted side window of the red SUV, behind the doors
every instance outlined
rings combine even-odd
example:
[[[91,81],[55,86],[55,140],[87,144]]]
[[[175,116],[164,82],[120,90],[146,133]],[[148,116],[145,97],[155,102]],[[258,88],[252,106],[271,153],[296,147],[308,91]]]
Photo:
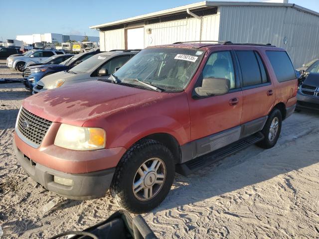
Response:
[[[296,73],[286,51],[266,51],[279,82],[296,79]]]

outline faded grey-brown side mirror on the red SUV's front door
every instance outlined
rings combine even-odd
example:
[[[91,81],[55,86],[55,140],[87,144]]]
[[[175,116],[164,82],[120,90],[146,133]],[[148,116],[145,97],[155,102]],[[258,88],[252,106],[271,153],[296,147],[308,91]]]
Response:
[[[220,96],[229,92],[230,82],[225,78],[204,78],[201,87],[196,87],[195,92],[199,96]]]

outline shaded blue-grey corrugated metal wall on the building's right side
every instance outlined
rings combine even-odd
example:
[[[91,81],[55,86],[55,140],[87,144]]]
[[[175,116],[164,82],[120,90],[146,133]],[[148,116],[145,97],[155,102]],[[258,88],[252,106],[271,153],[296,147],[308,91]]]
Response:
[[[270,6],[222,6],[220,14],[219,40],[272,43],[288,51],[296,68],[319,57],[318,16]]]

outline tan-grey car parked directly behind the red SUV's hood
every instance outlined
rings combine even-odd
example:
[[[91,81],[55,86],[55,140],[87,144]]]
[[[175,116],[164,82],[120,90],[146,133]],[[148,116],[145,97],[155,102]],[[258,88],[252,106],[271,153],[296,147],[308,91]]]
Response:
[[[119,50],[96,54],[68,71],[43,77],[33,87],[33,94],[74,83],[105,79],[138,52],[139,50]]]

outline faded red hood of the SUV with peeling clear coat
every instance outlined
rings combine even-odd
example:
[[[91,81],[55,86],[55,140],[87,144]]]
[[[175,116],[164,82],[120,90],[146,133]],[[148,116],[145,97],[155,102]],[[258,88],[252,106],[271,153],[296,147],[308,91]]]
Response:
[[[82,126],[85,121],[158,100],[166,93],[91,81],[47,90],[26,98],[22,105],[32,114],[53,122]]]

